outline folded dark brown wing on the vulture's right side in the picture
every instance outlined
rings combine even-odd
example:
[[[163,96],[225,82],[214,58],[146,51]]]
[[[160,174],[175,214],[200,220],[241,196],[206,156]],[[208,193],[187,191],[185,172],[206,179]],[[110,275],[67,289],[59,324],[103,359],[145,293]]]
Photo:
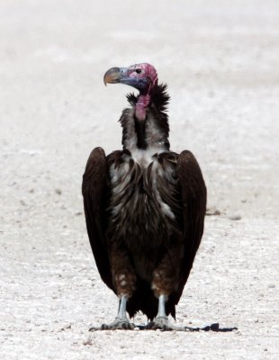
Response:
[[[181,272],[181,284],[179,284],[180,297],[202,240],[206,211],[206,187],[201,168],[190,151],[185,150],[179,155],[177,175],[181,188],[184,224],[184,266]]]

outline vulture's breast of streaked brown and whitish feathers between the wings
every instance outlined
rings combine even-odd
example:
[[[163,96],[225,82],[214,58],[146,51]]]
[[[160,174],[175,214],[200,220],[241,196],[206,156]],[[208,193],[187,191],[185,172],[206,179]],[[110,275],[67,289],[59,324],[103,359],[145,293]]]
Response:
[[[156,252],[177,231],[181,206],[171,154],[126,151],[110,167],[109,228],[131,251]]]

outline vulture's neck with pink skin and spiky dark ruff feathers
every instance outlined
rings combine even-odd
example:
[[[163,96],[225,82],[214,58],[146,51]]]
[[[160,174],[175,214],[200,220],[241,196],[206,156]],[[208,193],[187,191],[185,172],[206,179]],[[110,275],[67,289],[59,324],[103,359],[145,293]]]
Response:
[[[151,95],[127,95],[131,105],[121,115],[123,148],[150,150],[154,154],[168,151],[168,120],[166,106],[169,95],[166,85],[157,85]]]

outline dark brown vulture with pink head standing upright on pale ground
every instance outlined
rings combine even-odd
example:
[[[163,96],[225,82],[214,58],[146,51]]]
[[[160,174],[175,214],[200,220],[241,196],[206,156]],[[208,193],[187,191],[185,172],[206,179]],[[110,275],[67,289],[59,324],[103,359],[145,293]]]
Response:
[[[94,148],[82,193],[86,229],[101,278],[119,298],[117,317],[98,329],[175,329],[179,302],[200,246],[206,210],[201,168],[188,150],[170,149],[169,95],[148,63],[112,67],[104,84],[126,84],[130,106],[121,113],[122,149]],[[128,314],[129,317],[128,317]],[[95,328],[96,329],[96,328]]]

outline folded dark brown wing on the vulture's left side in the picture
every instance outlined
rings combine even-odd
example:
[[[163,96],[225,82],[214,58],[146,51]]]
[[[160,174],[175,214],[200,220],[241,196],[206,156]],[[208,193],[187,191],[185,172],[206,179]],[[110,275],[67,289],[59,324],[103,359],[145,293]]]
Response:
[[[103,148],[94,148],[87,160],[82,183],[86,228],[101,278],[114,291],[110,261],[103,235],[106,221],[104,209],[108,192],[107,175],[107,159]]]

